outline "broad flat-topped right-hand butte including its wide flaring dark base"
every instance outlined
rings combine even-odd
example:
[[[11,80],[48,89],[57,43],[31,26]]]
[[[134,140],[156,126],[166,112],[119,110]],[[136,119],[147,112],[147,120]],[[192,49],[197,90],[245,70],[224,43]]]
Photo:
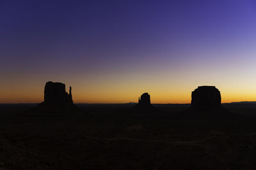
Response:
[[[216,125],[221,121],[230,121],[236,115],[221,107],[221,94],[214,86],[200,86],[191,94],[191,107],[176,115],[177,121],[195,125],[195,122]],[[196,123],[196,124],[197,124]]]

